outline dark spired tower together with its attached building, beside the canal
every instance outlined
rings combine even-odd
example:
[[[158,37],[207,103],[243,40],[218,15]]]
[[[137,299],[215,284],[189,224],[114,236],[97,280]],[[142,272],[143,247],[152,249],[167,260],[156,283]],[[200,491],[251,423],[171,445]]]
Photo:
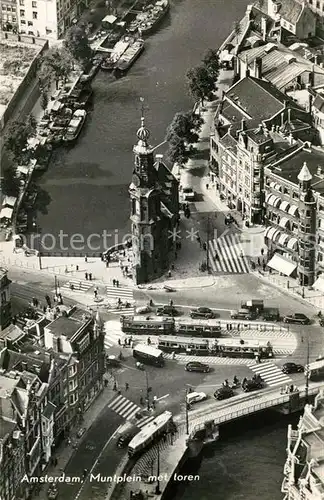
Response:
[[[154,158],[149,130],[142,125],[134,146],[134,168],[129,186],[133,279],[146,283],[166,272],[175,252],[173,231],[179,221],[178,181]]]

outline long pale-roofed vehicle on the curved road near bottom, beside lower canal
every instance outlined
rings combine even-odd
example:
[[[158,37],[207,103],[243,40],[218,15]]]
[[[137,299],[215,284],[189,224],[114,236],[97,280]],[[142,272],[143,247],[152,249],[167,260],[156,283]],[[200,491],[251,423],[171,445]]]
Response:
[[[152,422],[146,424],[129,443],[128,455],[132,457],[142,452],[149,444],[161,436],[161,434],[169,430],[171,422],[172,413],[170,411],[165,411],[152,420]]]

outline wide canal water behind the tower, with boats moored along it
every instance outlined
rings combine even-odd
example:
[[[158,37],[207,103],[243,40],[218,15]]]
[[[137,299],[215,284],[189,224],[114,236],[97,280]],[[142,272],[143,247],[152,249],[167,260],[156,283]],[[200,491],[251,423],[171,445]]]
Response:
[[[118,81],[99,72],[93,82],[94,105],[76,145],[55,152],[40,186],[46,206],[38,215],[49,248],[62,243],[67,250],[73,234],[102,234],[108,246],[128,232],[128,185],[133,168],[132,148],[140,124],[140,97],[145,98],[146,124],[151,144],[164,140],[177,111],[192,106],[185,74],[200,63],[208,48],[217,48],[245,2],[228,0],[173,0],[170,14],[159,31],[147,39],[146,50],[125,78]],[[90,241],[90,240],[89,240]],[[103,239],[92,236],[92,249]],[[82,244],[74,244],[74,250]],[[98,248],[97,248],[98,249]],[[85,249],[87,251],[87,249]]]

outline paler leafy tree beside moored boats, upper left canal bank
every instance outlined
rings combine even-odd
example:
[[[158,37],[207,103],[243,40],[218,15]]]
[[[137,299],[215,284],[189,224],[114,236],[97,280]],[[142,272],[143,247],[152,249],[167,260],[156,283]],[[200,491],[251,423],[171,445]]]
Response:
[[[52,80],[55,80],[56,87],[60,80],[66,80],[73,65],[73,57],[66,48],[53,47],[49,49],[41,61],[38,73],[42,93],[49,90]]]

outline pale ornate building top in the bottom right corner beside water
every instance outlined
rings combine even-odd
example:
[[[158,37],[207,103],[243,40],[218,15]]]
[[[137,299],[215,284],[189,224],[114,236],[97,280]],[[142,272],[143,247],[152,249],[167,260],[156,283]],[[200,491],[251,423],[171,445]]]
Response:
[[[287,460],[281,491],[284,500],[314,500],[324,497],[324,396],[306,405],[297,430],[288,426]]]

